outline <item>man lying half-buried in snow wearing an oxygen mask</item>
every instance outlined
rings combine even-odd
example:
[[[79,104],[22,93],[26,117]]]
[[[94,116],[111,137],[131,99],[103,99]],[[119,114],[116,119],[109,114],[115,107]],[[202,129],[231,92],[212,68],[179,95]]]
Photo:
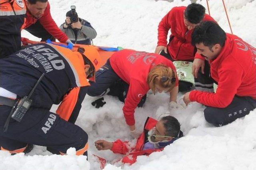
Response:
[[[122,158],[123,163],[133,164],[136,162],[137,156],[149,155],[152,152],[164,150],[164,147],[173,143],[176,139],[183,137],[180,131],[180,123],[175,117],[165,116],[159,121],[148,117],[144,125],[144,131],[137,140],[136,146],[132,148],[132,152],[128,153],[129,142],[116,140],[108,142],[98,140],[95,142],[95,147],[98,150],[112,150],[114,153],[127,154]]]

